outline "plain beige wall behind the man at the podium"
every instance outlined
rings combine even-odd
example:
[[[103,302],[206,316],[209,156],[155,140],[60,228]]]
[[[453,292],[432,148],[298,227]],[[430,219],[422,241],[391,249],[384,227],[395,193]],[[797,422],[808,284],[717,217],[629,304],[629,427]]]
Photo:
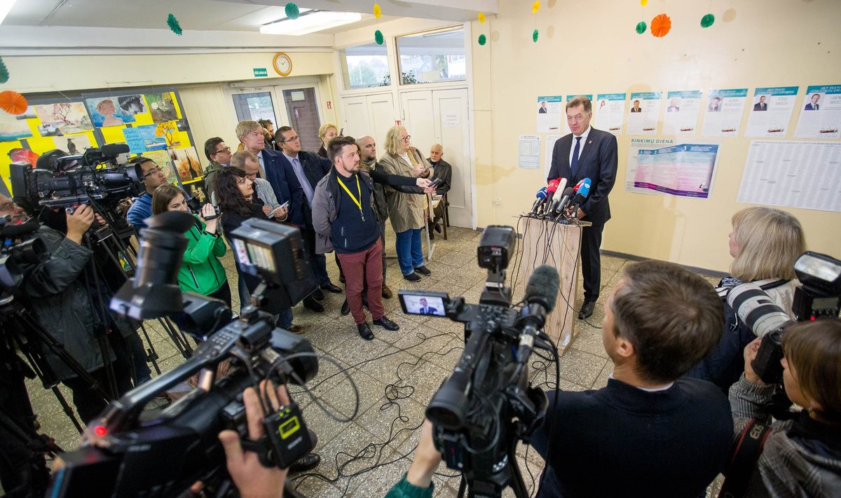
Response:
[[[542,168],[517,167],[518,135],[536,132],[537,95],[741,87],[753,92],[760,86],[799,85],[787,137],[793,140],[806,87],[841,82],[838,0],[712,3],[716,23],[710,29],[701,29],[707,6],[696,2],[652,1],[647,8],[615,0],[570,5],[550,0],[532,14],[531,3],[501,0],[498,16],[485,24],[473,22],[474,39],[481,33],[489,37],[484,47],[473,41],[479,226],[515,223],[512,217],[527,209],[545,184]],[[650,24],[659,13],[672,19],[667,36],[634,31],[637,21]],[[532,42],[535,27],[537,43]],[[747,113],[746,106],[741,135]],[[597,119],[593,124],[599,127]],[[752,139],[719,139],[717,176],[710,199],[702,200],[626,192],[631,136],[617,138],[613,218],[602,248],[727,270],[729,220],[748,207],[737,203],[736,195]],[[841,257],[841,214],[785,209],[801,220],[810,249]]]

